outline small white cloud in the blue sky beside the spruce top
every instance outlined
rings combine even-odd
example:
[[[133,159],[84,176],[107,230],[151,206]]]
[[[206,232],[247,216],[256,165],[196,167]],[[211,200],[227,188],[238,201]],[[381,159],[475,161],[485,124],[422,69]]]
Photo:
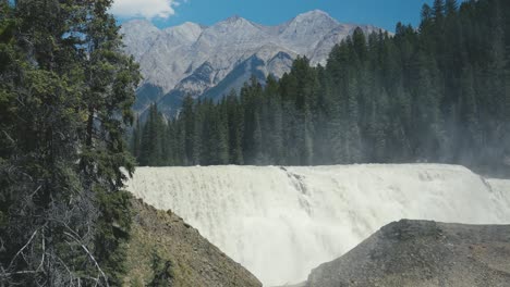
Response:
[[[121,17],[168,18],[177,5],[175,0],[114,0],[110,12]]]

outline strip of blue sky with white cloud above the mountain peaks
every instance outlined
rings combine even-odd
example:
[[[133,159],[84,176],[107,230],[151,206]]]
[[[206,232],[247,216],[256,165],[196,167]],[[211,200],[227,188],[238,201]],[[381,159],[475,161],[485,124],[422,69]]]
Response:
[[[373,24],[394,30],[399,21],[416,26],[424,3],[433,0],[116,0],[112,12],[122,22],[146,17],[159,27],[195,22],[212,25],[232,15],[276,25],[320,9],[340,22]]]

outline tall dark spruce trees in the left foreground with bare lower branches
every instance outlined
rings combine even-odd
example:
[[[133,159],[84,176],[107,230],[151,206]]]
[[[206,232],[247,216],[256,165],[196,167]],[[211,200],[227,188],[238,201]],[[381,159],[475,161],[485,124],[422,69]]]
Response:
[[[119,286],[139,79],[111,0],[0,1],[0,286]]]

